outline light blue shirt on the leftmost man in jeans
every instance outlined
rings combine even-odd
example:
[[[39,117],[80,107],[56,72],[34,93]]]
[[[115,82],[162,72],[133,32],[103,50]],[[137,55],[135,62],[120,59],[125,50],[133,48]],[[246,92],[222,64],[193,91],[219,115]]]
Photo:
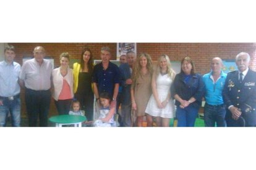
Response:
[[[0,96],[11,97],[20,93],[18,83],[20,74],[20,64],[6,61],[0,62]]]

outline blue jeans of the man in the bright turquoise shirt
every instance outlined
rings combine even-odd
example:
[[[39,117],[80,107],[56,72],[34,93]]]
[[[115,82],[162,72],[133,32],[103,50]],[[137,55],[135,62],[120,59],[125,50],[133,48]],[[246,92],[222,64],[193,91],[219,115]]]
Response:
[[[226,127],[226,108],[224,105],[209,105],[205,103],[204,110],[205,126],[215,127],[215,123],[218,127]]]

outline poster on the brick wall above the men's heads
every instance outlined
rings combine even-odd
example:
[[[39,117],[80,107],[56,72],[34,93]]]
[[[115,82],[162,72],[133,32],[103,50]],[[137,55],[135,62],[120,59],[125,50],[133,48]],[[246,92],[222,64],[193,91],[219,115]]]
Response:
[[[126,54],[128,51],[136,53],[136,43],[134,42],[117,42],[116,47],[116,60],[119,60],[120,56]]]

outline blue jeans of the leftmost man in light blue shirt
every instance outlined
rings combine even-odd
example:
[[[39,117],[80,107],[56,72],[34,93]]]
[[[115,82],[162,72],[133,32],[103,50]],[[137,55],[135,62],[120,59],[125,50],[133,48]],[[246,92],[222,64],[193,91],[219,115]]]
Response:
[[[4,105],[0,106],[0,127],[6,126],[8,113],[11,115],[13,127],[20,127],[20,98],[14,100],[2,99]]]

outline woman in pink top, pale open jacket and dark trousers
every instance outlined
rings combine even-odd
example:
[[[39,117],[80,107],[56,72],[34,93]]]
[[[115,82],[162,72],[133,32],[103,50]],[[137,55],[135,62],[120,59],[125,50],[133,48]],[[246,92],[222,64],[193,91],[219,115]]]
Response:
[[[59,115],[69,114],[72,98],[74,97],[74,79],[73,71],[69,68],[69,57],[68,52],[63,52],[59,57],[61,67],[55,68],[52,72],[53,98]]]

